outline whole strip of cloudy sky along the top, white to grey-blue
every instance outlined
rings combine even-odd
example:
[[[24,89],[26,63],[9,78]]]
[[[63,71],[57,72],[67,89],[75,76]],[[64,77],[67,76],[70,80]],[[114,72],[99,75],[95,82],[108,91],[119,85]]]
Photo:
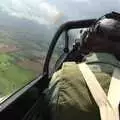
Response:
[[[87,19],[117,11],[120,0],[1,0],[0,10],[40,24]]]

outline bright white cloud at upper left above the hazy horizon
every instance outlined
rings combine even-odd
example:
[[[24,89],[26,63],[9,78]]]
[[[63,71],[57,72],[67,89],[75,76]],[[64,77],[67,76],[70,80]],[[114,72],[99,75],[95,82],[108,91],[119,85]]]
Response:
[[[0,8],[9,15],[40,24],[52,24],[61,15],[54,5],[45,0],[4,0],[0,1]]]

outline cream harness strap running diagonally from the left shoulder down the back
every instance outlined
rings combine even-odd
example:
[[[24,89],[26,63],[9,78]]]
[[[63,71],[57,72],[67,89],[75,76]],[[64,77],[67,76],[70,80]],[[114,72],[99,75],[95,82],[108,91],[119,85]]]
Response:
[[[101,120],[117,120],[113,104],[111,104],[110,99],[108,100],[103,88],[88,65],[81,63],[79,64],[79,69],[82,72],[86,84],[99,107]]]

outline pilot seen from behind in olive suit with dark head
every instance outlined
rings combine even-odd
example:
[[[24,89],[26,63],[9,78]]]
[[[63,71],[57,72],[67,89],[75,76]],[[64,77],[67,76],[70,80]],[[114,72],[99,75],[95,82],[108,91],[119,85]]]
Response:
[[[87,52],[84,61],[63,63],[62,68],[54,73],[49,83],[52,120],[104,119],[105,111],[99,106],[100,96],[103,94],[99,93],[100,91],[97,93],[97,88],[100,87],[105,93],[103,96],[107,98],[114,69],[120,69],[120,15],[112,12],[98,19],[87,31],[81,51]],[[84,65],[87,66],[86,69]],[[89,77],[89,71],[86,71],[88,69],[97,79],[98,87],[94,81],[91,87],[88,85],[90,83],[86,82],[85,77]],[[92,77],[89,77],[89,80]]]

